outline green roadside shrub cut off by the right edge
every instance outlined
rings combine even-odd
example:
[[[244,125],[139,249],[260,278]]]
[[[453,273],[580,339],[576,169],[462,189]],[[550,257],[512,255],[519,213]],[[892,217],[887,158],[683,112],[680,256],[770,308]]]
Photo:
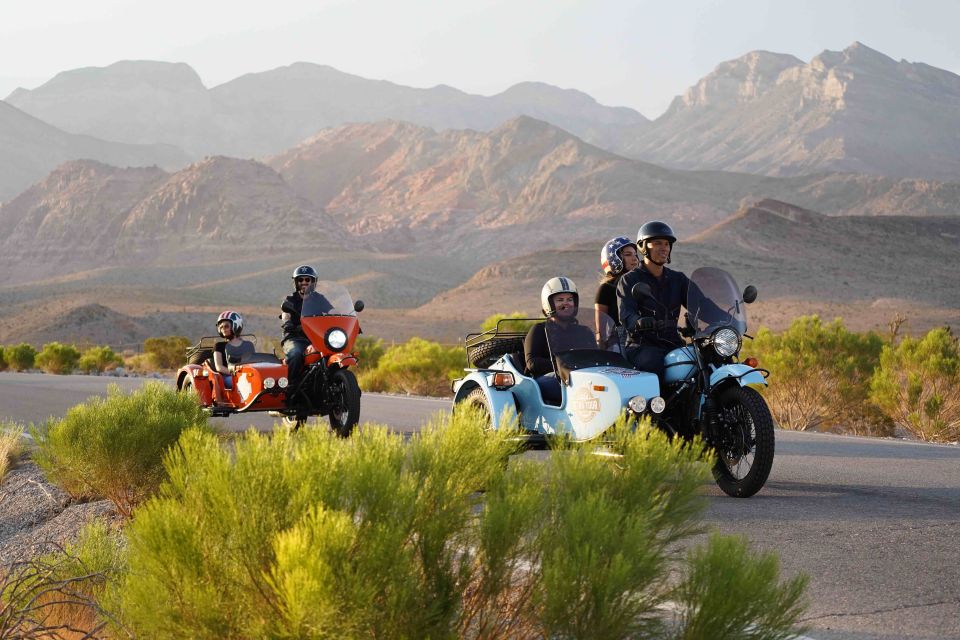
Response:
[[[960,346],[948,328],[884,347],[870,397],[921,440],[960,440]]]

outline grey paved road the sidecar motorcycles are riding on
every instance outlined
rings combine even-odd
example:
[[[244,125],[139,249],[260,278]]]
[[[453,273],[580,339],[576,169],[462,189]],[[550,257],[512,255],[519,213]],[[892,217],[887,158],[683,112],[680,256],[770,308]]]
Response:
[[[143,379],[0,373],[0,419],[62,415],[116,382]],[[415,431],[448,403],[365,393],[362,418]],[[223,421],[232,430],[267,416]],[[749,500],[707,488],[707,520],[780,553],[811,576],[817,640],[960,639],[960,447],[777,432],[767,486]]]

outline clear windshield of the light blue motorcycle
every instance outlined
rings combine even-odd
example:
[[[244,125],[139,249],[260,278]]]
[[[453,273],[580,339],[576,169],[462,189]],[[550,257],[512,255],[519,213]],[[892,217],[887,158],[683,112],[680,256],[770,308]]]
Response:
[[[733,276],[723,269],[703,267],[690,274],[687,311],[698,333],[710,333],[724,326],[740,335],[747,332],[743,294]]]

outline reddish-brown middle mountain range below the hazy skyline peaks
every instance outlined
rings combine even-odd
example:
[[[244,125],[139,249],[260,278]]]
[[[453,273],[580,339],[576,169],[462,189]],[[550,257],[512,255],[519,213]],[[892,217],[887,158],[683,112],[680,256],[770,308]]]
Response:
[[[955,214],[960,185],[664,169],[528,117],[489,133],[345,125],[268,164],[217,156],[170,174],[67,163],[0,206],[0,284],[344,242],[420,255],[456,247],[479,268],[633,233],[649,218],[690,235],[761,198],[831,215]]]

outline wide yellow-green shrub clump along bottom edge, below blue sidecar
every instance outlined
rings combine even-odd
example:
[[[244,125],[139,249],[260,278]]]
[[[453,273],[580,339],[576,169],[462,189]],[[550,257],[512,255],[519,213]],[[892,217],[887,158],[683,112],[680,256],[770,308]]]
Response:
[[[408,442],[251,432],[230,452],[184,434],[127,528],[111,610],[150,638],[666,638],[676,570],[691,619],[749,612],[727,637],[796,624],[804,579],[780,586],[765,557],[714,538],[675,560],[705,508],[698,447],[622,428],[617,460],[586,446],[507,465],[514,435],[469,411]],[[749,593],[775,613],[725,595],[727,572],[764,577]]]

